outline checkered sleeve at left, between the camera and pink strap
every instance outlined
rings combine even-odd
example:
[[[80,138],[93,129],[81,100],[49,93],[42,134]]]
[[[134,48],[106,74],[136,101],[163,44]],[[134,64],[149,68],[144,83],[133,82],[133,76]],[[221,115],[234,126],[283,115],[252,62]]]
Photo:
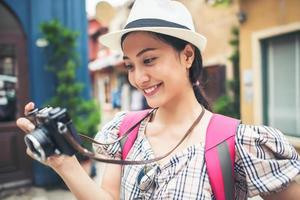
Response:
[[[118,139],[118,132],[121,122],[125,116],[126,112],[119,112],[115,117],[106,123],[101,131],[99,131],[95,140],[101,143],[113,143],[107,145],[93,144],[94,152],[97,156],[104,156],[110,159],[121,159],[122,150],[120,142],[115,142]]]

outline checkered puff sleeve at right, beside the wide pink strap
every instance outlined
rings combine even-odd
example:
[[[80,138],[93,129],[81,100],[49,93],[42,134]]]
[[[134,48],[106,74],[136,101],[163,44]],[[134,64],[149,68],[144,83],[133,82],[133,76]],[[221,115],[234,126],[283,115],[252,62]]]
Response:
[[[278,192],[300,173],[298,153],[275,128],[241,124],[236,152],[237,195]]]

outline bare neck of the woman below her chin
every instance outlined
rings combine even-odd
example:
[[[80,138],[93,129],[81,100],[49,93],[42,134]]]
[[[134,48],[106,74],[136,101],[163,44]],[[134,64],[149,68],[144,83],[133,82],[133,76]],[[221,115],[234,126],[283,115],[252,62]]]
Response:
[[[202,111],[193,89],[185,91],[181,96],[176,96],[157,110],[155,118],[165,125],[194,121]]]

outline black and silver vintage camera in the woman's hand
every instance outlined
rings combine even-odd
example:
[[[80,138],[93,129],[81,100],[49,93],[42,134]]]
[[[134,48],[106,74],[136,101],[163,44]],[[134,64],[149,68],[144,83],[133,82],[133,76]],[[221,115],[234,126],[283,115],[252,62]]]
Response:
[[[26,134],[26,146],[38,160],[45,160],[53,154],[74,155],[77,151],[66,140],[70,134],[79,144],[80,138],[70,119],[67,109],[45,107],[34,109],[27,117],[34,121],[36,128]]]

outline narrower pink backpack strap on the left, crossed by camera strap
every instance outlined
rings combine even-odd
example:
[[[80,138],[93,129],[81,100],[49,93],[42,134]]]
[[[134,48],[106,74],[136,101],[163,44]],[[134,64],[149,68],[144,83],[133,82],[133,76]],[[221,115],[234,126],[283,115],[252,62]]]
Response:
[[[149,113],[149,109],[141,111],[130,111],[125,114],[119,128],[119,137],[123,136],[126,131],[128,131],[132,126],[134,126],[138,121],[143,119]],[[125,160],[128,152],[136,140],[140,124],[136,126],[127,137],[123,138],[121,142],[122,149],[122,160]]]

